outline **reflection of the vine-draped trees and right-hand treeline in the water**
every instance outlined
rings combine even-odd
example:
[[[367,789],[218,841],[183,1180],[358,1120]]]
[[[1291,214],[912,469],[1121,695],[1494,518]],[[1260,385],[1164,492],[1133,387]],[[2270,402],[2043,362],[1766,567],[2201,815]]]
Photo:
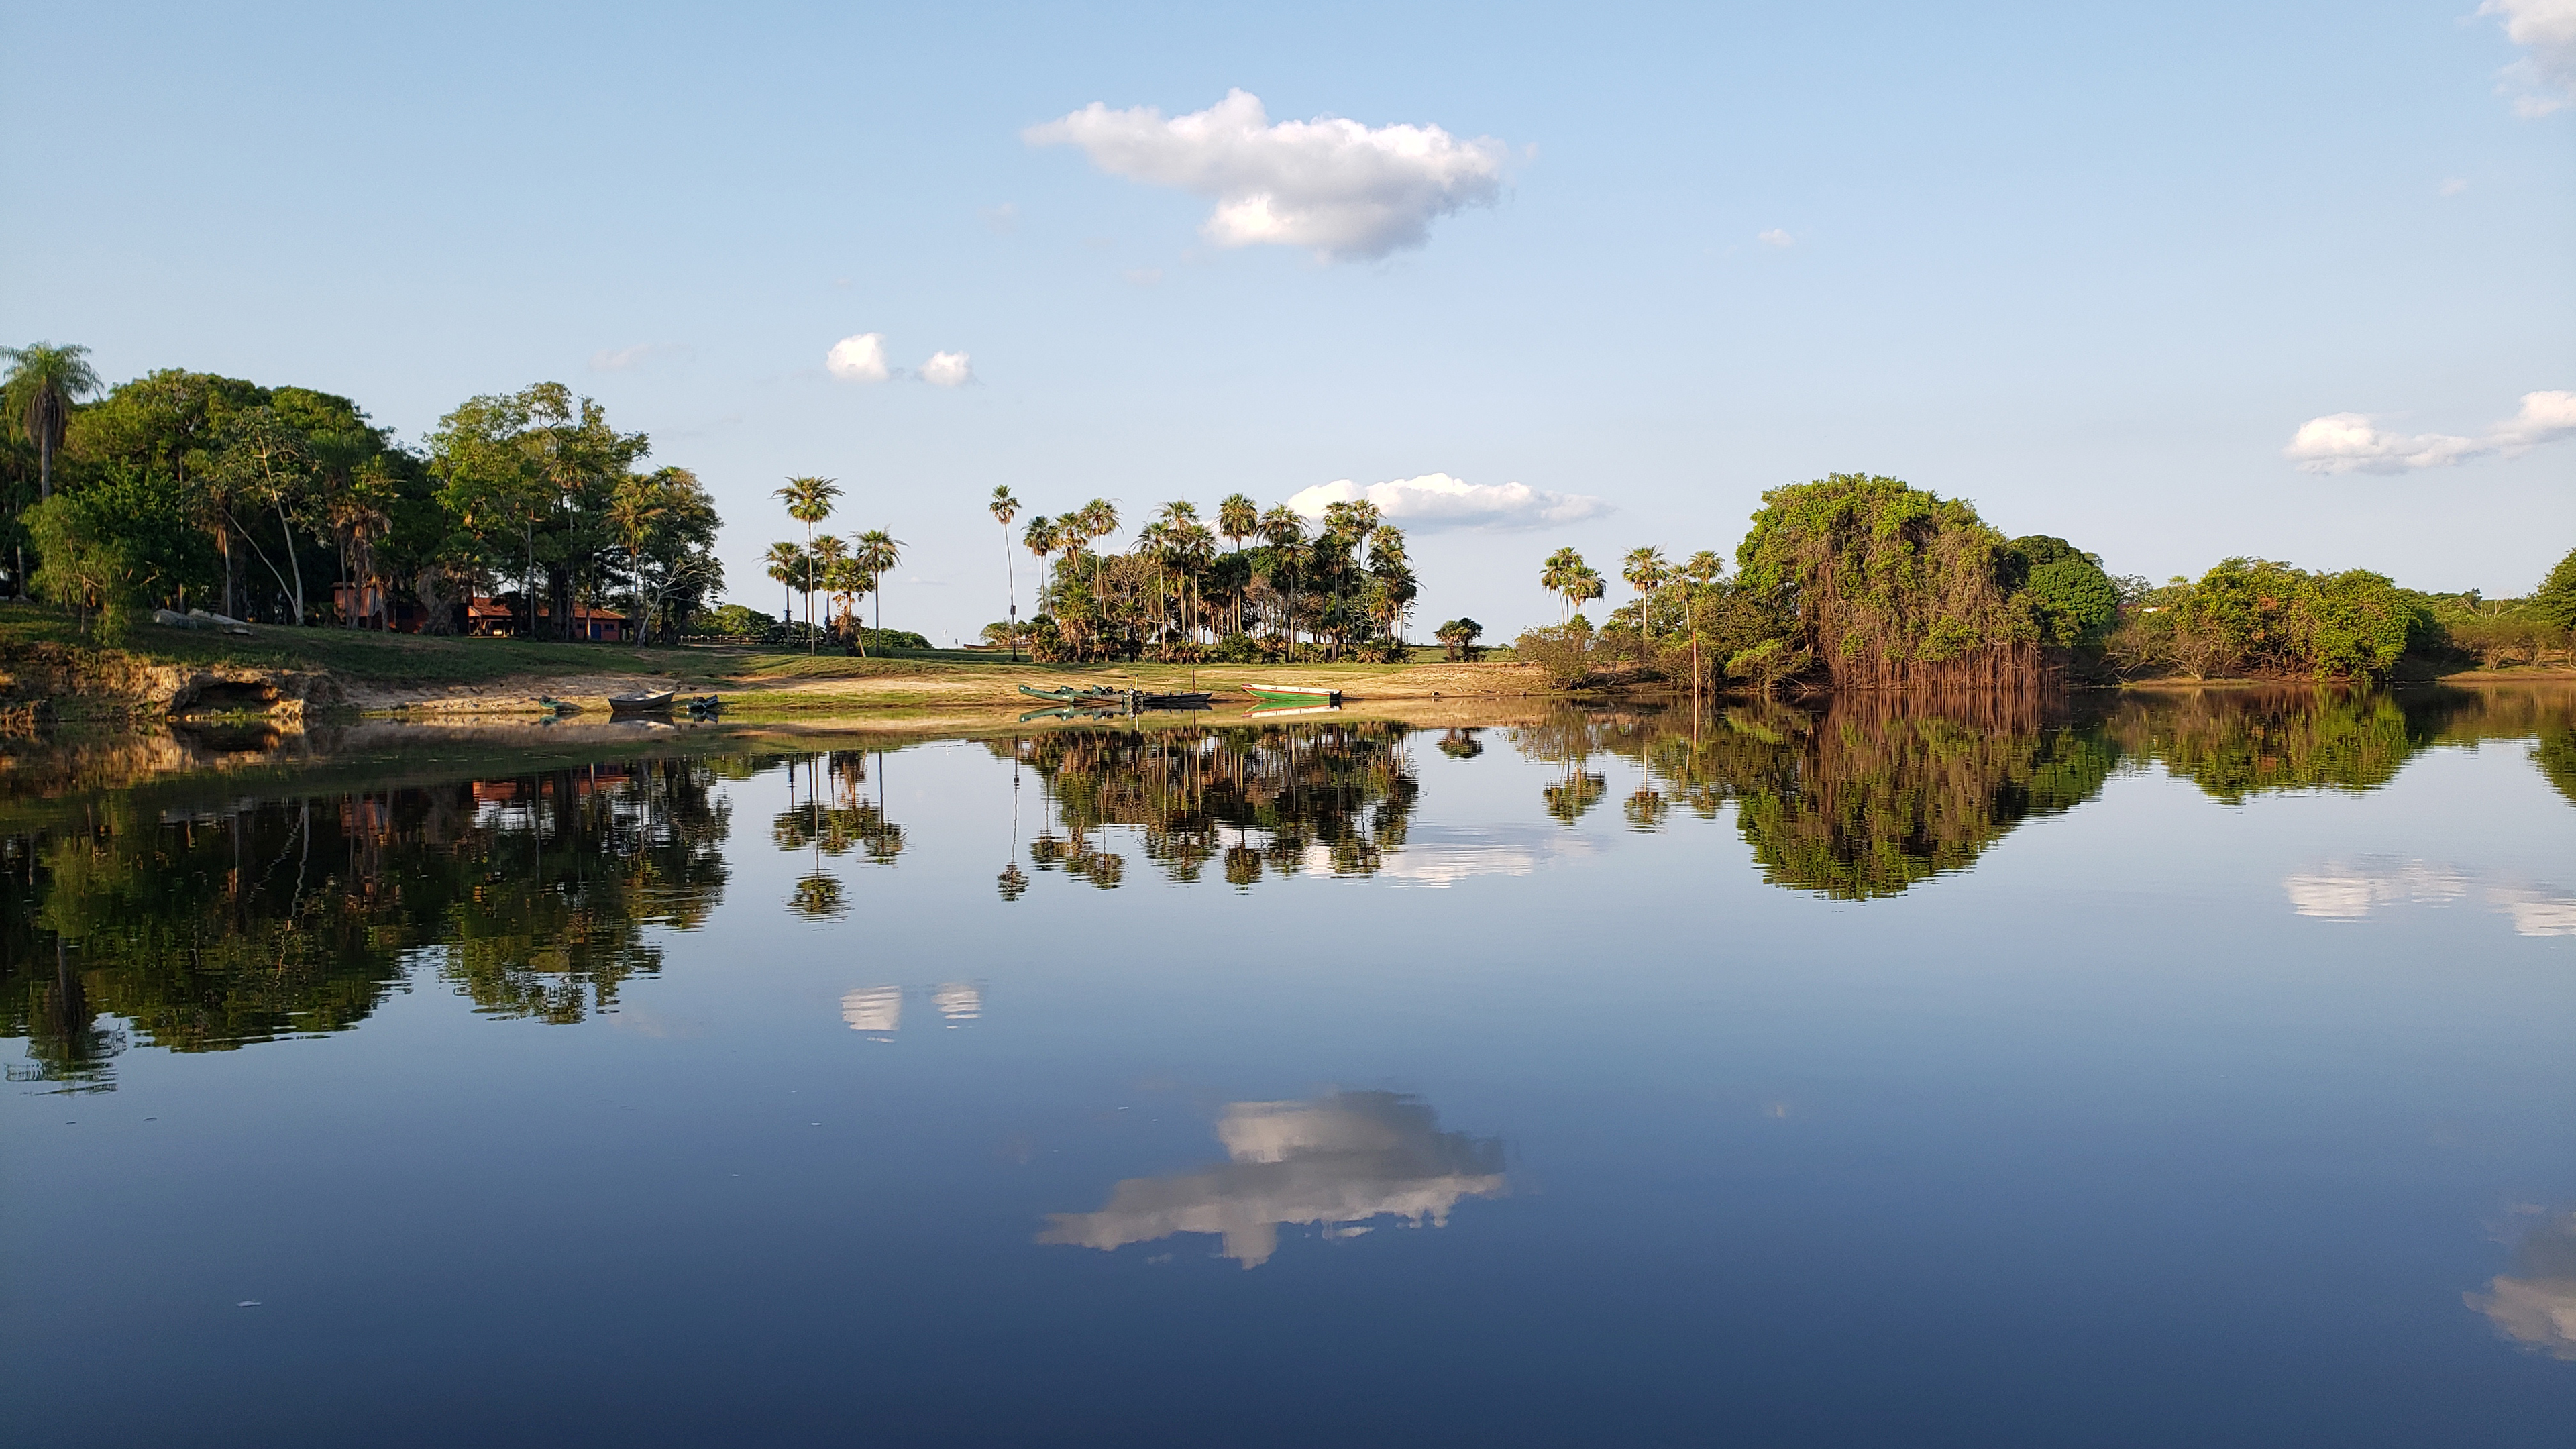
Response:
[[[1561,766],[1546,786],[1556,820],[1571,825],[1602,797],[1587,761],[1625,758],[1649,781],[1628,797],[1631,828],[1654,830],[1672,807],[1716,817],[1731,799],[1765,879],[1868,900],[1965,869],[2017,822],[2071,810],[2146,763],[2239,802],[2372,789],[2416,750],[2540,735],[2540,768],[2576,797],[2571,704],[2576,694],[2550,688],[1850,694],[1824,709],[1558,709],[1515,727],[1512,743]]]

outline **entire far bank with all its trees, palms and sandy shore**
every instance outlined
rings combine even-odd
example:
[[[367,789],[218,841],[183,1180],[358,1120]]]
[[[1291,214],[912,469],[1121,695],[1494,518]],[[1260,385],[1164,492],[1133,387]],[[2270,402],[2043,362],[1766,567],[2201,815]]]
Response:
[[[1765,492],[1731,557],[1649,544],[1613,583],[1561,547],[1538,572],[1558,621],[1510,650],[1481,645],[1473,619],[1430,629],[1437,647],[1406,639],[1422,580],[1368,500],[1316,518],[1244,492],[1206,516],[1172,500],[1115,552],[1113,500],[1023,523],[997,487],[979,505],[1002,531],[1007,616],[976,650],[935,650],[884,627],[904,541],[817,531],[845,495],[829,477],[775,490],[799,529],[765,557],[781,614],[719,603],[708,490],[685,467],[647,469],[644,433],[554,382],[471,397],[407,446],[314,389],[180,369],[103,389],[82,348],[49,343],[0,361],[0,593],[18,596],[0,603],[0,730],[21,732],[113,714],[520,714],[636,688],[773,717],[1005,709],[1023,678],[1806,699],[2576,668],[2576,549],[2527,598],[2254,557],[2156,585],[1875,474]],[[1595,627],[1582,606],[1618,583],[1628,598]]]

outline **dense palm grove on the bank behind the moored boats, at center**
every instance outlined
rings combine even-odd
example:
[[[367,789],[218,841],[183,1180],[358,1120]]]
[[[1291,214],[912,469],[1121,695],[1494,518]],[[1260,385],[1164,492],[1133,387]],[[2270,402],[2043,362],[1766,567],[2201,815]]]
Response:
[[[1005,508],[1007,505],[1007,508]],[[1007,516],[1005,516],[1007,513]],[[994,498],[1005,529],[1018,516]],[[1213,523],[1172,500],[1126,552],[1118,505],[1028,518],[1020,547],[1041,567],[1036,616],[984,629],[997,645],[1041,660],[1340,660],[1401,657],[1404,619],[1422,585],[1404,531],[1373,503],[1332,503],[1309,521],[1288,505],[1260,508],[1234,492]],[[1224,539],[1226,547],[1218,547]]]

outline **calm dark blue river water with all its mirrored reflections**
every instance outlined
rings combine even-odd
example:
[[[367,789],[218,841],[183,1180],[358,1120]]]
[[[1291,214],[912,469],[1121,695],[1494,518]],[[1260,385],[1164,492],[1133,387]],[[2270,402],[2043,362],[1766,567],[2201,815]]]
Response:
[[[10,1439],[2563,1446],[2571,704],[18,768]]]

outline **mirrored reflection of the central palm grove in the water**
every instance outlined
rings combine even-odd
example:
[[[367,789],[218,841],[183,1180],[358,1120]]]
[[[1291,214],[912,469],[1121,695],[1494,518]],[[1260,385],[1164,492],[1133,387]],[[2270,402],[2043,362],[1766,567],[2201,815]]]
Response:
[[[1126,859],[1100,833],[1126,828],[1170,879],[1195,882],[1216,861],[1249,890],[1316,851],[1332,874],[1376,871],[1422,792],[1404,735],[1386,722],[1054,730],[992,750],[1028,766],[1054,810],[1056,825],[1028,846],[1041,871],[1121,884]]]

